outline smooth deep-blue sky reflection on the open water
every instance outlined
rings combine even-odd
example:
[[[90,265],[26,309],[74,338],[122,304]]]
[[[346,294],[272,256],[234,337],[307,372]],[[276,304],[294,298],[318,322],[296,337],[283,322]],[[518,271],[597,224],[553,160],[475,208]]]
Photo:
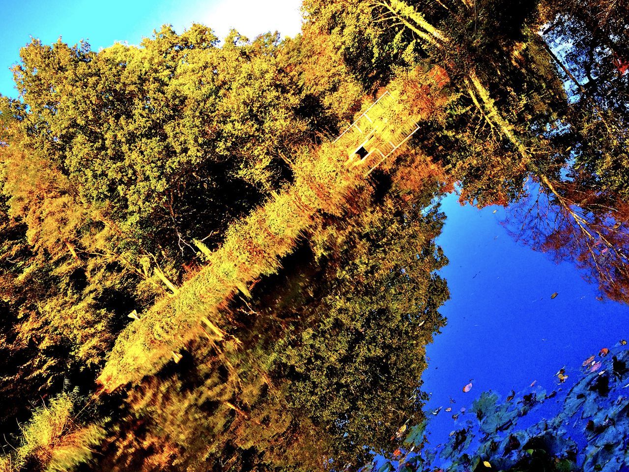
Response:
[[[499,224],[502,207],[460,206],[450,194],[442,209],[448,218],[438,244],[450,264],[441,274],[452,298],[442,307],[448,325],[427,348],[423,376],[422,390],[432,393],[426,405],[431,446],[464,425],[465,415],[455,423],[452,414],[482,391],[504,400],[537,380],[550,392],[559,388],[554,374],[560,368],[576,381],[584,359],[629,337],[629,306],[596,300],[596,286],[574,266],[516,243]],[[554,292],[559,295],[551,300]],[[470,379],[474,386],[463,393]],[[443,410],[431,415],[438,407]]]

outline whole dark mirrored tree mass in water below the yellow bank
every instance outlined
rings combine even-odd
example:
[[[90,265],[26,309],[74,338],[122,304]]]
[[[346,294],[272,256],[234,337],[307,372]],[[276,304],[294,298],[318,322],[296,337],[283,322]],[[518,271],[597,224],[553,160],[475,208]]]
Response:
[[[330,218],[226,307],[240,346],[199,340],[133,388],[99,467],[338,468],[420,422],[425,346],[448,298],[435,274],[447,263],[434,242],[444,216],[430,183],[409,198],[396,179],[376,177],[394,188],[356,197],[372,211]]]

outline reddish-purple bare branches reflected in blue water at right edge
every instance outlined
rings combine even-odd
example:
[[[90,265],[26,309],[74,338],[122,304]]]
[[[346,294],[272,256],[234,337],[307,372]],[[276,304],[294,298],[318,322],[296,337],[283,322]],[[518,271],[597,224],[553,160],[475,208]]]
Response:
[[[563,179],[541,176],[508,208],[505,226],[517,240],[570,261],[612,300],[629,302],[629,207],[587,184],[582,167]]]

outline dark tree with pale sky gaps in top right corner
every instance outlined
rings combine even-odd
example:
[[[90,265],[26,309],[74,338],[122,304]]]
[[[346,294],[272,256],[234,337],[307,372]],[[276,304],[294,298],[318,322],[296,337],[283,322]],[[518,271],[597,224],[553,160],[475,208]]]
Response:
[[[629,57],[626,8],[615,1],[562,1],[542,3],[542,13],[547,50],[570,84],[564,120],[574,140],[571,159],[586,167],[592,184],[626,199],[629,76],[620,70]]]

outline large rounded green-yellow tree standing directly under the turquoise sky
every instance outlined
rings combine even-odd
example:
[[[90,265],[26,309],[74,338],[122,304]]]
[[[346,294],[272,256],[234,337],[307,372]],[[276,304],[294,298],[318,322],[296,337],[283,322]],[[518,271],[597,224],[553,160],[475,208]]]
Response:
[[[291,179],[289,156],[307,141],[277,37],[217,42],[201,25],[98,53],[33,40],[14,69],[29,159],[72,182],[75,201],[111,229],[109,252],[175,281],[196,256],[192,240],[220,242]]]

